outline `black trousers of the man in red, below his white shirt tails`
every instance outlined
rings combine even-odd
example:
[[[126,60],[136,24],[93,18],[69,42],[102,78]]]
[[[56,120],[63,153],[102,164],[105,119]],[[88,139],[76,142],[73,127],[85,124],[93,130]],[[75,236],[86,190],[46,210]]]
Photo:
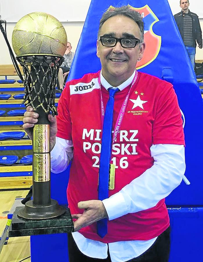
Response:
[[[68,236],[69,262],[111,262],[108,250],[106,259],[95,259],[85,256],[78,249],[72,234]],[[126,251],[127,252],[127,251]],[[168,262],[170,253],[170,227],[166,229],[154,242],[154,244],[140,256],[128,260],[128,262]]]

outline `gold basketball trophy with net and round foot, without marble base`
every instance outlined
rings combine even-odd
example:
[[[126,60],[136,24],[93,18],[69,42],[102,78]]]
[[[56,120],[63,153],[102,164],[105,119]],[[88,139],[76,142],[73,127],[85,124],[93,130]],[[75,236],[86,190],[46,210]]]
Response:
[[[17,215],[24,219],[58,217],[66,209],[51,199],[48,114],[57,115],[55,85],[67,46],[66,32],[55,17],[30,13],[15,25],[12,46],[25,76],[23,103],[39,114],[33,128],[33,200],[26,202]]]

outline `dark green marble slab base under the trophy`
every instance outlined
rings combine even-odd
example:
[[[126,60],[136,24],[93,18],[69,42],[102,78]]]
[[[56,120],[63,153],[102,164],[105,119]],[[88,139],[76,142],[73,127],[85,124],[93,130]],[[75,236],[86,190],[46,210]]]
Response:
[[[66,212],[60,217],[43,220],[19,218],[17,212],[21,208],[17,207],[13,213],[12,223],[9,228],[9,237],[71,233],[74,231],[69,208],[66,208]]]

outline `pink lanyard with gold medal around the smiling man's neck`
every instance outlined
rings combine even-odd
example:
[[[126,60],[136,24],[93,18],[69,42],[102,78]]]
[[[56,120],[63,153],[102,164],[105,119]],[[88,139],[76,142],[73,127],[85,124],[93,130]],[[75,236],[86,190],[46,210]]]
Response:
[[[135,73],[135,76],[134,76],[134,79],[132,81],[132,84],[130,86],[130,90],[132,88],[132,86],[135,84],[136,80],[137,80],[137,77],[138,77],[138,72],[136,70],[136,73]],[[101,81],[100,81],[100,73],[99,73],[99,77],[98,77],[98,82],[99,82],[99,86],[100,86],[100,93],[101,93]],[[127,101],[128,101],[128,98],[129,98],[129,95],[130,95],[130,90],[129,92],[127,93],[127,96],[123,102],[123,105],[121,106],[121,109],[120,109],[120,112],[119,112],[119,115],[118,115],[118,118],[116,120],[116,125],[115,125],[115,128],[114,128],[114,135],[113,135],[113,141],[112,141],[112,146],[113,144],[115,143],[116,141],[116,137],[118,135],[118,132],[119,132],[119,129],[121,127],[121,123],[123,121],[123,116],[125,114],[125,109],[126,109],[126,106],[127,106]],[[102,126],[103,126],[103,122],[104,122],[104,103],[103,103],[103,98],[102,98],[102,93],[101,93],[101,118],[102,118]],[[118,124],[119,123],[119,124]],[[110,164],[109,163],[109,190],[113,190],[114,187],[115,187],[115,165],[114,164]]]

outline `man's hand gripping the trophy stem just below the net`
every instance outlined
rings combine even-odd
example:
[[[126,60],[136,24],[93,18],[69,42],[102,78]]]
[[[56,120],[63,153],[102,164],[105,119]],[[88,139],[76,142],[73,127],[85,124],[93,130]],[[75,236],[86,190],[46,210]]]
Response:
[[[24,113],[23,128],[28,133],[31,140],[33,140],[33,127],[37,124],[38,117],[39,114],[35,113],[31,106],[28,106],[26,112]],[[49,114],[48,120],[50,121],[50,150],[52,150],[56,142],[57,125],[56,118],[54,116]]]

